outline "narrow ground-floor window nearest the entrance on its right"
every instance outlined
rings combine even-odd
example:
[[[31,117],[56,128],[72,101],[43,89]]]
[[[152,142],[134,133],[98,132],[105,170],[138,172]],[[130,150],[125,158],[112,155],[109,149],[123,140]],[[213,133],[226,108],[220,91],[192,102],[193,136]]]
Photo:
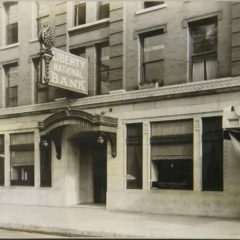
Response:
[[[127,189],[142,189],[142,123],[127,124]]]

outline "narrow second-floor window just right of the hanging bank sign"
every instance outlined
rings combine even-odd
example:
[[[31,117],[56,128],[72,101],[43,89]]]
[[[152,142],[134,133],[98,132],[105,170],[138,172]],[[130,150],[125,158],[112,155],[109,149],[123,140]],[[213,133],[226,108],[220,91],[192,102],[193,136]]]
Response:
[[[109,44],[102,43],[97,48],[97,94],[109,91]]]

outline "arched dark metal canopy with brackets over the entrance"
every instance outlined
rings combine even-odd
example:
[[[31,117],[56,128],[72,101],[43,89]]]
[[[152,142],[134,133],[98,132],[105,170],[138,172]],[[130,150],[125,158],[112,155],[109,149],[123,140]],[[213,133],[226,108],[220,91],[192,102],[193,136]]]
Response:
[[[57,112],[38,123],[41,144],[52,140],[56,147],[57,159],[61,159],[62,131],[67,125],[79,125],[81,127],[81,132],[101,133],[106,140],[110,142],[112,157],[116,157],[116,131],[118,119],[67,109]]]

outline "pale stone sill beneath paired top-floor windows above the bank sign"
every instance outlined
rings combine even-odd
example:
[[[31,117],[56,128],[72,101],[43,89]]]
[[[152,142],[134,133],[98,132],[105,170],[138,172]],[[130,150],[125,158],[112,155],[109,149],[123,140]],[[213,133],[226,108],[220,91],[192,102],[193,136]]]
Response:
[[[103,28],[109,25],[109,18],[105,18],[105,19],[101,19],[95,22],[91,22],[91,23],[86,23],[86,24],[82,24],[79,26],[75,26],[72,28],[68,29],[68,33],[74,34],[74,33],[82,33],[82,32],[88,32],[88,31],[92,31],[92,30],[96,30],[99,28]]]

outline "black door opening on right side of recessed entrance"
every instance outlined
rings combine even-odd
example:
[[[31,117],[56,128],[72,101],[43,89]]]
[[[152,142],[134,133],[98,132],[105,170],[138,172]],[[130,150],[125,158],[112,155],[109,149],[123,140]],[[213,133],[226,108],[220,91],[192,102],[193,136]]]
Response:
[[[106,143],[93,147],[93,189],[94,203],[106,203],[107,192],[107,151]]]

